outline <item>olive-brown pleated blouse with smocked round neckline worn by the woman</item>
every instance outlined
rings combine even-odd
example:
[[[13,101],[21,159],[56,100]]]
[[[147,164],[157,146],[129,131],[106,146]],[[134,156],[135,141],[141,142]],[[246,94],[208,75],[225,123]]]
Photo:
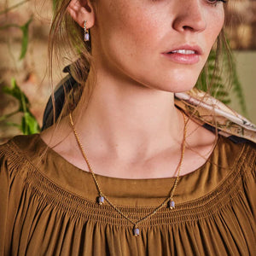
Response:
[[[256,255],[253,144],[218,137],[207,162],[180,177],[175,209],[148,218],[141,236],[107,202],[96,203],[89,172],[45,148],[38,135],[0,147],[0,256]],[[96,177],[134,220],[160,205],[175,180]]]

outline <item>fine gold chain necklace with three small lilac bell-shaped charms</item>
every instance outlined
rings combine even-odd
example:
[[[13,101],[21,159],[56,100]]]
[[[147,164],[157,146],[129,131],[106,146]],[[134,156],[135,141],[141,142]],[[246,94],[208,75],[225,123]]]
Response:
[[[183,113],[183,112],[182,112]],[[74,128],[74,124],[73,124],[73,118],[72,118],[72,115],[71,113],[69,113],[69,119],[70,119],[70,124],[72,125],[72,128],[73,128],[73,133],[76,137],[76,140],[77,140],[77,143],[79,144],[79,148],[81,150],[81,153],[83,154],[83,157],[84,157],[84,160],[87,164],[87,166],[89,167],[89,170],[90,170],[90,173],[94,179],[94,182],[96,183],[96,188],[99,192],[99,196],[96,198],[97,202],[99,203],[99,205],[102,205],[104,203],[104,201],[108,201],[108,204],[113,207],[113,209],[116,211],[116,212],[119,212],[119,214],[121,216],[123,216],[124,218],[126,218],[128,221],[131,222],[131,224],[133,224],[133,235],[134,236],[140,236],[140,230],[138,228],[138,225],[141,224],[143,221],[145,221],[146,219],[150,218],[151,216],[153,216],[156,212],[158,212],[162,207],[164,207],[167,203],[167,207],[169,207],[170,209],[174,209],[175,208],[175,202],[173,201],[173,195],[174,195],[174,192],[175,192],[175,189],[177,188],[177,182],[178,182],[178,178],[179,178],[179,174],[180,174],[180,170],[181,170],[181,167],[182,167],[182,164],[183,164],[183,158],[184,158],[184,152],[185,152],[185,140],[186,140],[186,134],[187,134],[187,127],[186,127],[186,118],[185,118],[185,114],[183,113],[183,121],[184,121],[184,128],[183,128],[183,142],[182,142],[182,145],[181,145],[181,157],[180,157],[180,160],[178,162],[178,165],[177,165],[177,177],[175,179],[175,182],[173,184],[173,188],[172,188],[172,192],[171,192],[171,195],[169,197],[166,198],[165,201],[163,201],[159,207],[156,207],[154,209],[153,212],[150,212],[148,213],[148,215],[146,215],[145,217],[139,219],[138,221],[133,221],[131,218],[129,218],[127,215],[125,215],[124,212],[122,212],[121,210],[119,210],[118,207],[116,207],[111,201],[109,201],[108,199],[108,196],[107,195],[104,195],[102,193],[102,189],[96,179],[96,175],[95,173],[93,172],[91,166],[90,166],[90,163],[89,163],[89,160],[84,152],[84,147],[82,145],[82,143],[80,142],[80,139],[79,139],[79,135],[78,135],[78,132],[75,130]]]

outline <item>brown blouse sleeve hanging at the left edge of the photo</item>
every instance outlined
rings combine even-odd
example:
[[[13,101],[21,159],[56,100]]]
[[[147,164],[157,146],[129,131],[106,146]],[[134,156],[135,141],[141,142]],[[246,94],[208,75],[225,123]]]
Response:
[[[11,255],[11,237],[26,177],[26,162],[10,141],[0,146],[0,256]]]

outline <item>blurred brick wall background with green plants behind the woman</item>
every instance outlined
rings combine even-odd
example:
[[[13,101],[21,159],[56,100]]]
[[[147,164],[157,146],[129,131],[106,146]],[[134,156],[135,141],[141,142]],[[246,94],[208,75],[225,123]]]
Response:
[[[239,94],[244,97],[246,108],[233,90],[230,107],[256,123],[256,1],[231,1],[226,32],[234,50],[236,79],[241,84]],[[22,131],[38,131],[51,94],[47,42],[52,1],[38,2],[0,3],[0,143]],[[61,67],[54,70],[53,84],[58,84],[63,73]],[[31,125],[29,129],[24,126],[26,122]]]

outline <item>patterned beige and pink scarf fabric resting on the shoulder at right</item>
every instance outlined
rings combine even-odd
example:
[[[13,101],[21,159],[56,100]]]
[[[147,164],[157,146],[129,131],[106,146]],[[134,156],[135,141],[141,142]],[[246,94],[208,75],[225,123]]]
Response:
[[[217,129],[218,134],[235,143],[245,139],[256,143],[256,126],[205,91],[193,88],[175,93],[175,105],[199,125],[211,131]]]

